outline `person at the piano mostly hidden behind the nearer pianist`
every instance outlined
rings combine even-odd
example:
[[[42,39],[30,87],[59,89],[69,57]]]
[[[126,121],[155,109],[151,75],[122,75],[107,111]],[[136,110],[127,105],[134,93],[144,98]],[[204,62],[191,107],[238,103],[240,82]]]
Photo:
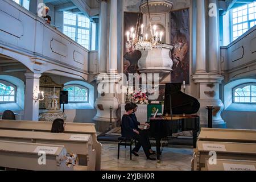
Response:
[[[147,131],[147,130],[141,130],[141,129],[139,129],[139,127],[138,127],[138,126],[140,126],[140,125],[143,125],[143,126],[147,126],[147,128],[148,128],[148,127],[150,127],[150,125],[148,125],[148,123],[142,123],[142,124],[141,124],[140,122],[138,122],[137,117],[136,117],[136,115],[135,115],[135,113],[136,113],[136,111],[137,111],[137,109],[138,109],[138,105],[137,105],[137,104],[134,104],[134,103],[131,103],[131,105],[134,106],[134,109],[133,109],[133,113],[130,114],[130,117],[131,117],[131,119],[133,119],[134,126],[135,126],[136,130],[138,130],[138,131],[141,133],[141,135],[144,135],[144,137],[147,138],[147,144],[148,144],[148,146],[150,147],[150,150],[149,150],[149,151],[150,151],[150,154],[153,155],[153,154],[155,154],[155,151],[153,151],[153,150],[151,149],[150,139],[148,138],[148,131]],[[138,142],[138,143],[139,143],[139,142]],[[141,148],[141,143],[139,143],[138,145],[136,145],[136,147],[135,147],[134,150],[133,150],[133,154],[136,155],[136,156],[138,156],[138,151],[139,151],[140,148]]]

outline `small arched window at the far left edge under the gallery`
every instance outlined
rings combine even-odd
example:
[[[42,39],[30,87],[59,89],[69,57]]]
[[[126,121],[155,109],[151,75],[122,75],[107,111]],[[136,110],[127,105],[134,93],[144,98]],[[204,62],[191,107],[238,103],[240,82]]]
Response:
[[[16,101],[16,86],[0,80],[0,103],[10,103]]]

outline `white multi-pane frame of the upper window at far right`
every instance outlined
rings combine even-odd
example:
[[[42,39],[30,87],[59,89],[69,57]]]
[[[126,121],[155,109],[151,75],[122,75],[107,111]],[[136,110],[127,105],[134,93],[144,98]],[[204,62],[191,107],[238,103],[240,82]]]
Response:
[[[251,2],[251,3],[254,3],[254,2]],[[234,35],[234,31],[233,31],[233,27],[234,26],[236,26],[236,25],[238,25],[238,24],[243,24],[243,23],[247,23],[247,31],[248,30],[250,30],[251,28],[253,28],[253,27],[250,27],[250,23],[251,22],[255,22],[256,21],[256,18],[255,19],[253,19],[253,20],[249,20],[249,4],[250,3],[248,3],[247,5],[242,5],[242,6],[247,6],[247,21],[245,21],[245,22],[240,22],[240,23],[236,23],[236,24],[233,24],[233,10],[234,9],[237,9],[238,7],[236,7],[236,8],[234,8],[234,9],[232,9],[232,10],[230,10],[230,14],[229,14],[229,16],[230,16],[230,40],[231,40],[231,42],[233,42],[234,40],[237,40],[238,38],[240,38],[240,36],[238,36],[236,39],[234,39],[234,37],[233,37],[233,35]],[[242,7],[242,6],[239,6],[239,7]],[[255,6],[254,6],[255,7]],[[254,13],[256,13],[255,11],[254,11]],[[255,26],[255,25],[254,25]],[[247,32],[246,31],[246,32]],[[245,33],[243,33],[243,34],[245,34]],[[242,34],[242,35],[243,35]]]

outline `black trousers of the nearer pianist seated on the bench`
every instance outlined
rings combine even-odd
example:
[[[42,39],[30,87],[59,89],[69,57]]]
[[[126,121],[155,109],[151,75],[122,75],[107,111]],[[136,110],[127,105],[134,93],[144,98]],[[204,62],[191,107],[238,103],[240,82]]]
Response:
[[[138,130],[138,131],[139,131],[140,140],[134,138],[138,142],[137,142],[136,146],[134,147],[133,151],[138,152],[141,147],[143,148],[143,150],[144,150],[144,148],[146,148],[147,151],[145,152],[145,150],[144,150],[144,153],[146,154],[146,156],[149,156],[150,155],[149,150],[151,149],[151,143],[148,138],[147,130]],[[138,135],[138,134],[136,134],[136,135]]]

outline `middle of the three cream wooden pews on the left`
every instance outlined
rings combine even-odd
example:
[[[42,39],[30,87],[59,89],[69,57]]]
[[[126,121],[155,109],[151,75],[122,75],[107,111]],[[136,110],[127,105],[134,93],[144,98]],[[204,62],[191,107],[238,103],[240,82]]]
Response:
[[[92,135],[0,130],[0,140],[62,145],[68,153],[79,155],[80,165],[86,163],[85,169],[95,170],[96,151],[92,148]]]

